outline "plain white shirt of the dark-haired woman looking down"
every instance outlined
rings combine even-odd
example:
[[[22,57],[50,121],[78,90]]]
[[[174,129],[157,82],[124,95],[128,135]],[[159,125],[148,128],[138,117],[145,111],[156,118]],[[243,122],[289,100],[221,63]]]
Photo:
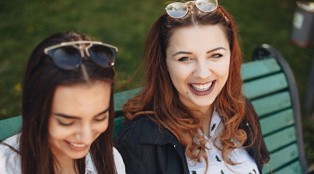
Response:
[[[11,145],[15,149],[20,149],[20,136],[16,134],[3,142]],[[113,147],[114,163],[118,174],[125,173],[125,166],[123,159],[117,149]],[[18,174],[21,171],[21,157],[20,154],[12,150],[9,146],[0,144],[0,173],[12,173]],[[85,156],[85,174],[97,174],[96,167],[92,160],[90,153],[88,152]]]

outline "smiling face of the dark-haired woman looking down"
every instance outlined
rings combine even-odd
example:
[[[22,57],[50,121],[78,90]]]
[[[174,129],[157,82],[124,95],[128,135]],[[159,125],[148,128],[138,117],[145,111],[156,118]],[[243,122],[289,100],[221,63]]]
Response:
[[[84,157],[108,128],[110,92],[111,83],[104,81],[56,88],[48,131],[58,161]]]

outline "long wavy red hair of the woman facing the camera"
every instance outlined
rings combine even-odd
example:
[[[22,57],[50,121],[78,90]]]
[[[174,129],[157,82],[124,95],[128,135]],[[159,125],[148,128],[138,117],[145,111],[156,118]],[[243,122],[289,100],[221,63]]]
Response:
[[[245,97],[241,92],[242,53],[236,26],[232,16],[222,6],[218,6],[212,12],[203,12],[195,6],[195,3],[186,4],[189,7],[186,16],[173,18],[165,13],[152,25],[146,38],[142,59],[145,61],[144,87],[140,93],[124,104],[125,116],[131,120],[139,114],[146,114],[178,138],[189,158],[200,161],[204,157],[208,163],[205,151],[207,140],[199,133],[199,129],[202,129],[202,118],[180,101],[178,91],[167,70],[166,49],[169,46],[169,39],[178,28],[218,24],[229,40],[231,60],[226,84],[214,102],[224,123],[224,128],[218,136],[222,146],[217,147],[222,150],[224,161],[234,164],[228,160],[228,154],[233,149],[243,146],[248,136],[244,130],[239,129],[243,119],[252,125],[252,134],[249,136],[253,137],[252,143],[245,148],[249,148],[256,140],[261,142],[258,122],[254,119],[249,106],[245,104]],[[197,142],[193,140],[195,137],[198,139]],[[233,138],[239,143],[235,144]]]

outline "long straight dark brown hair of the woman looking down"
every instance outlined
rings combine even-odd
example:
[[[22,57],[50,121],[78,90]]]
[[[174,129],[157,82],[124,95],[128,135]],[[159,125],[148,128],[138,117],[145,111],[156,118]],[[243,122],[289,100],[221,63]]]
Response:
[[[20,139],[21,167],[23,174],[55,173],[58,161],[48,142],[48,120],[53,95],[60,85],[91,83],[102,80],[114,83],[115,70],[105,68],[84,57],[79,68],[63,70],[55,66],[44,54],[44,48],[64,41],[90,40],[75,32],[57,33],[37,45],[27,64],[22,94],[23,125]],[[84,66],[85,68],[82,68]],[[90,153],[98,173],[116,173],[113,160],[113,86],[111,87],[108,129],[101,133],[90,147]],[[85,157],[75,159],[78,173],[85,173]]]

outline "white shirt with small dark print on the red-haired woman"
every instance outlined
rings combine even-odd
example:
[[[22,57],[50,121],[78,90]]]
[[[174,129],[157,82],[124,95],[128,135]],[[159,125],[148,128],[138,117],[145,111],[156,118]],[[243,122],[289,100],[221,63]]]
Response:
[[[237,162],[239,164],[226,166],[221,154],[221,150],[217,149],[214,145],[214,139],[221,133],[223,129],[223,122],[214,108],[211,126],[210,126],[210,138],[206,135],[204,137],[209,139],[206,143],[206,153],[208,156],[208,169],[206,173],[245,173],[245,174],[259,174],[258,167],[253,157],[248,154],[248,152],[243,148],[236,148],[232,150],[228,158],[230,158],[233,162]],[[201,132],[202,133],[202,132]],[[219,139],[217,139],[216,144],[218,146],[221,145]],[[187,155],[186,159],[188,162],[188,167],[190,173],[203,174],[206,171],[206,162],[204,157],[201,159],[201,162],[197,162],[197,160],[191,160]],[[229,168],[228,168],[229,167]],[[195,171],[195,172],[192,172]]]

